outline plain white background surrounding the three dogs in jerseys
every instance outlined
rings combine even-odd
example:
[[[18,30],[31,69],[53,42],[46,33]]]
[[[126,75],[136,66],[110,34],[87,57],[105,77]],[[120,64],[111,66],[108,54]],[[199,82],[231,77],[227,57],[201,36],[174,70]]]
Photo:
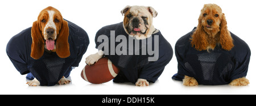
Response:
[[[182,82],[172,80],[177,73],[175,54],[166,66],[163,74],[148,87],[137,87],[132,83],[90,84],[80,77],[85,66],[85,57],[96,53],[94,36],[98,29],[109,24],[122,22],[121,10],[126,5],[152,6],[158,11],[153,19],[155,28],[174,45],[181,36],[197,26],[200,10],[205,3],[216,3],[225,13],[229,31],[246,41],[251,49],[251,60],[247,79],[249,86],[196,86],[185,87]],[[37,20],[39,12],[48,6],[58,9],[63,18],[77,24],[89,35],[90,44],[79,67],[71,73],[72,83],[51,87],[30,87],[26,84],[26,75],[20,75],[6,54],[8,41]],[[255,30],[256,6],[254,1],[0,1],[0,94],[256,94],[255,66]]]

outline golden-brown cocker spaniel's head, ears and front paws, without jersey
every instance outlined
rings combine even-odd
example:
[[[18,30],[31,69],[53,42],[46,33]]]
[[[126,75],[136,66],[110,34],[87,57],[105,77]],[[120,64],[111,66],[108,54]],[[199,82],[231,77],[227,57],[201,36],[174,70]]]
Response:
[[[215,4],[204,5],[199,16],[199,24],[192,35],[191,45],[196,50],[213,50],[216,45],[221,45],[222,49],[231,50],[233,48],[233,39],[226,26],[225,14],[222,13],[220,6]],[[196,86],[197,81],[193,77],[185,75],[183,79],[185,86]],[[238,78],[229,83],[232,86],[246,86],[249,80]]]

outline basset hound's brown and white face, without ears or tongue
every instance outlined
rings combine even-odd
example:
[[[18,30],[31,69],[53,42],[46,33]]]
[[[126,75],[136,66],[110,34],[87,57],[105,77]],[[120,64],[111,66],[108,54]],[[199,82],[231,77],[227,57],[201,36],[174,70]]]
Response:
[[[44,40],[56,40],[63,21],[60,12],[52,7],[48,7],[40,12],[38,21]]]

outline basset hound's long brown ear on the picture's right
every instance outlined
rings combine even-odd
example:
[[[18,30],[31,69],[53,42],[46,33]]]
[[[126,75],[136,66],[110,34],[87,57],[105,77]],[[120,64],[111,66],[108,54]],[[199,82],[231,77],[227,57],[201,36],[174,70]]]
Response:
[[[68,22],[63,20],[63,22],[61,23],[60,33],[57,36],[56,40],[56,53],[60,58],[67,58],[70,56],[68,36]]]

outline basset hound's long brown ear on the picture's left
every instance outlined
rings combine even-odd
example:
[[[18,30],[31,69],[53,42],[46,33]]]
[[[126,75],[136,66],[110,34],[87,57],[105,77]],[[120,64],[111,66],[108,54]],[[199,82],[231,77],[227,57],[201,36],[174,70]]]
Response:
[[[38,60],[44,54],[44,39],[39,29],[39,23],[35,21],[31,28],[31,54],[30,56],[35,60]]]

